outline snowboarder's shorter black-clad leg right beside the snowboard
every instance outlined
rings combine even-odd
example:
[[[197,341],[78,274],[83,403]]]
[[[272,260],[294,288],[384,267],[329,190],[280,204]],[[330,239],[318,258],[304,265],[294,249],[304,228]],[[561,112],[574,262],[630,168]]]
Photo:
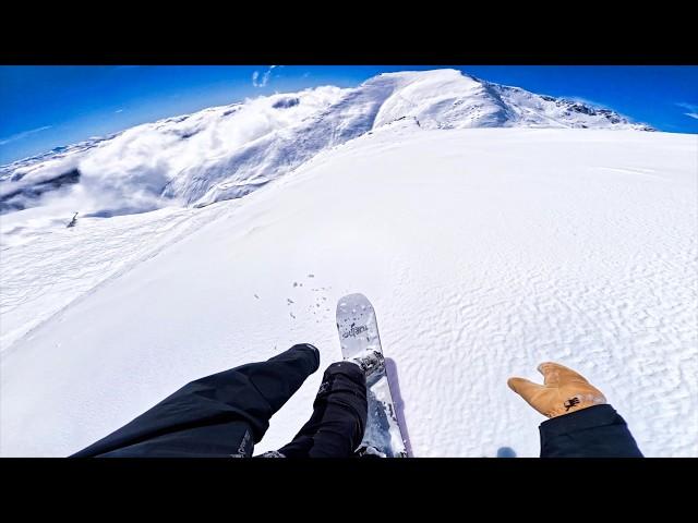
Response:
[[[361,443],[368,416],[366,378],[361,367],[349,362],[332,364],[313,409],[310,421],[276,453],[285,458],[351,457]]]

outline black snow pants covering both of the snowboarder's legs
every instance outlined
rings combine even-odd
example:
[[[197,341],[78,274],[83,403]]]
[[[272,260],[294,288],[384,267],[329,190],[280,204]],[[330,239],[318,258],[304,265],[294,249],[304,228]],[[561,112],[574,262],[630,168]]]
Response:
[[[74,458],[249,458],[269,418],[317,370],[320,352],[293,345],[190,382]],[[289,458],[352,455],[366,423],[366,384],[358,365],[335,363],[323,377],[310,421],[279,449]]]

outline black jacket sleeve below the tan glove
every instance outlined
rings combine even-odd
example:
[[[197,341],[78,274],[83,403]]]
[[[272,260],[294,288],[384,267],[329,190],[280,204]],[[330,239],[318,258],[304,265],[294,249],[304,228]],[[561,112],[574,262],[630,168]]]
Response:
[[[642,458],[625,419],[594,405],[540,425],[541,458]]]

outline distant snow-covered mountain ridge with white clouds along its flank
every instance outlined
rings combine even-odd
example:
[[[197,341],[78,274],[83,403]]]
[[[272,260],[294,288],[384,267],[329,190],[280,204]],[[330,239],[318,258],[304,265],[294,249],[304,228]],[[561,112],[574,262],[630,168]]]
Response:
[[[244,196],[318,153],[405,120],[419,129],[651,127],[456,70],[277,94],[137,125],[0,167],[0,212],[58,205],[108,217]]]

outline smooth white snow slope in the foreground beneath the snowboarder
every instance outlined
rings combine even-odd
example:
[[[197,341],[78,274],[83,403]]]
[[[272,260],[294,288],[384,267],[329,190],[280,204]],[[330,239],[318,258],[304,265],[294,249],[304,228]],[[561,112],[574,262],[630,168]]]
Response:
[[[310,342],[321,368],[255,452],[290,440],[373,302],[418,457],[534,457],[506,386],[568,365],[647,455],[698,455],[698,137],[425,130],[402,121],[242,199],[1,219],[2,455],[67,455],[198,377]],[[69,214],[67,214],[69,218]]]

